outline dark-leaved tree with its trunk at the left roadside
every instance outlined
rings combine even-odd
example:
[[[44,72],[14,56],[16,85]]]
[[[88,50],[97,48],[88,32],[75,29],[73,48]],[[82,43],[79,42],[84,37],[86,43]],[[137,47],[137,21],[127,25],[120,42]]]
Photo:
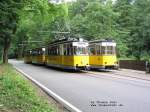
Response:
[[[8,50],[17,30],[18,11],[24,0],[5,0],[0,2],[0,39],[3,42],[3,63],[8,63]]]

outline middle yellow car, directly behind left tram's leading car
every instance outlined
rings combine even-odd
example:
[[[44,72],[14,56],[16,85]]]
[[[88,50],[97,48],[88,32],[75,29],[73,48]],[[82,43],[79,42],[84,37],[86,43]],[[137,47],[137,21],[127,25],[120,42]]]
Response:
[[[32,49],[31,53],[33,64],[45,64],[45,47]]]

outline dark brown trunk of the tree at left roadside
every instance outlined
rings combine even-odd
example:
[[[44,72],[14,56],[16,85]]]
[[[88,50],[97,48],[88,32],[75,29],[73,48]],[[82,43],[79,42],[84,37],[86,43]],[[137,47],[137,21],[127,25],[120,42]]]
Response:
[[[10,47],[10,39],[4,40],[4,49],[3,49],[3,63],[8,63],[8,50]]]

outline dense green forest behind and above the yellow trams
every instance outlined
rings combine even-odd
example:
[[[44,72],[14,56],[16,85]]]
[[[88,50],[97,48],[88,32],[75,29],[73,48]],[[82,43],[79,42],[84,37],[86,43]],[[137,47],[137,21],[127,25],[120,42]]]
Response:
[[[62,37],[111,38],[119,59],[150,60],[150,0],[0,1],[3,63]]]

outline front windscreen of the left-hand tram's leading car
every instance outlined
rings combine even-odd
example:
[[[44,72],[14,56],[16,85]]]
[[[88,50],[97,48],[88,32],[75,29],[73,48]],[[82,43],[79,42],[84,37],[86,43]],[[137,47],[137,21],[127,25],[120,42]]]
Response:
[[[88,50],[86,47],[74,47],[74,55],[87,55]]]

